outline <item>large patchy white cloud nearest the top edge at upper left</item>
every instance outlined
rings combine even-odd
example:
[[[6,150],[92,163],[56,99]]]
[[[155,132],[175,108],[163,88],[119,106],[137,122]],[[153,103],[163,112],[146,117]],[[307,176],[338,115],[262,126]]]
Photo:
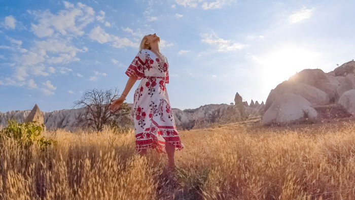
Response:
[[[64,2],[66,10],[60,10],[57,14],[45,11],[29,11],[37,17],[38,24],[31,23],[31,30],[38,37],[49,37],[58,31],[62,35],[74,34],[82,36],[82,30],[88,23],[94,20],[94,10],[84,4],[74,5]]]

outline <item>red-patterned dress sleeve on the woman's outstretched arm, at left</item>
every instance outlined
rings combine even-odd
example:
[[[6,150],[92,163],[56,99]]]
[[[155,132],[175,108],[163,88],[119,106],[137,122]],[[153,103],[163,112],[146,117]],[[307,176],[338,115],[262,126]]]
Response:
[[[144,77],[144,68],[146,65],[146,54],[144,50],[140,50],[128,66],[125,74],[129,77],[135,76],[137,80]]]

